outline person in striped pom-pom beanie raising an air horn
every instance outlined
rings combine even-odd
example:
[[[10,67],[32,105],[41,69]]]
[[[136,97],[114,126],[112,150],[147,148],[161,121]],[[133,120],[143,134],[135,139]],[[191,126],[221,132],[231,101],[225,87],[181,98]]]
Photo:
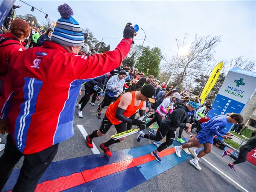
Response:
[[[35,191],[58,151],[58,143],[74,135],[74,106],[81,84],[119,66],[136,34],[128,23],[116,49],[85,59],[77,55],[84,34],[71,16],[72,9],[64,4],[58,11],[61,18],[52,40],[44,42],[43,47],[17,52],[10,59],[4,95],[0,97],[0,133],[9,132],[0,157],[0,191],[22,156],[23,166],[13,191]],[[67,36],[70,32],[72,35]]]

